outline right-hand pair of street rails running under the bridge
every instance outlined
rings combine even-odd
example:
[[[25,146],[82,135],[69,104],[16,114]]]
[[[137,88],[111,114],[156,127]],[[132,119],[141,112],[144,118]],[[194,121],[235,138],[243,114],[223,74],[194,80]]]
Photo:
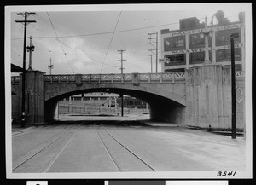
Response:
[[[122,143],[121,141],[119,141],[119,139],[115,136],[113,136],[113,134],[111,134],[106,127],[104,127],[102,124],[100,125],[95,125],[96,128],[96,132],[97,135],[99,136],[103,147],[105,148],[106,152],[108,153],[108,156],[110,157],[110,159],[113,161],[113,165],[116,167],[116,169],[118,171],[123,171],[122,165],[119,165],[119,161],[118,159],[116,159],[116,157],[113,155],[113,151],[111,151],[111,149],[108,148],[108,143],[106,141],[109,141],[109,138],[111,138],[111,140],[113,142],[116,143],[116,145],[119,145],[119,147],[122,147],[123,150],[126,151],[126,155],[130,155],[130,158],[133,158],[133,160],[137,161],[137,163],[140,163],[141,165],[146,166],[146,168],[148,169],[147,171],[156,171],[154,169],[154,167],[152,165],[149,165],[147,163],[147,161],[145,161],[143,158],[141,158],[137,153],[131,151],[131,148],[125,146],[124,143]],[[100,132],[105,132],[107,134],[108,139],[106,140],[106,135],[104,136],[104,134],[101,134]],[[132,156],[132,157],[131,157]]]

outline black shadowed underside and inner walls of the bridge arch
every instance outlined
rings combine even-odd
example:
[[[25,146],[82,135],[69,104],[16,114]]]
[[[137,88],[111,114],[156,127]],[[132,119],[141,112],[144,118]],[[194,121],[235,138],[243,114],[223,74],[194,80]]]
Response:
[[[148,104],[150,120],[170,122],[175,124],[183,123],[185,107],[182,104],[161,95],[155,95],[141,90],[121,88],[95,88],[75,90],[65,94],[57,95],[44,102],[44,119],[46,121],[56,119],[56,110],[59,101],[62,101],[65,98],[67,99],[67,97],[73,95],[81,95],[86,93],[109,93],[135,97],[136,99]]]

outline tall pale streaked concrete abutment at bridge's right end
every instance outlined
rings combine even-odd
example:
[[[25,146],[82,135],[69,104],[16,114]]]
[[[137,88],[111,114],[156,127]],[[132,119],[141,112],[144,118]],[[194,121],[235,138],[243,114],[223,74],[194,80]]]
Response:
[[[244,79],[236,78],[236,87],[244,91]],[[237,128],[244,128],[244,102],[236,103]],[[207,128],[231,128],[230,67],[195,66],[186,71],[186,122]]]

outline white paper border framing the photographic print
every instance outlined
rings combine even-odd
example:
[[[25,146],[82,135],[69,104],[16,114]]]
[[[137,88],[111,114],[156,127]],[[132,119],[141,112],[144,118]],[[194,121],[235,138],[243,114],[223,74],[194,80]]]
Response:
[[[12,179],[193,179],[193,178],[252,178],[252,4],[251,3],[223,3],[222,6],[238,5],[246,9],[246,92],[245,92],[245,113],[246,113],[246,148],[247,148],[247,169],[237,171],[236,176],[218,177],[218,171],[166,171],[166,172],[90,172],[90,173],[12,173],[12,140],[11,140],[11,81],[10,81],[10,17],[12,12],[42,12],[42,11],[129,11],[129,10],[198,10],[211,9],[219,6],[219,3],[161,3],[161,4],[111,4],[111,5],[40,5],[40,6],[6,6],[5,7],[5,38],[4,38],[4,61],[5,61],[5,134],[6,134],[6,174]]]

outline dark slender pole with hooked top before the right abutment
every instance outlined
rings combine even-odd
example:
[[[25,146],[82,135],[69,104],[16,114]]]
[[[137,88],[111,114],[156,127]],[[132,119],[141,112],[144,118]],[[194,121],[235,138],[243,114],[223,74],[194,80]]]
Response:
[[[239,38],[238,33],[230,35],[231,48],[231,96],[232,96],[232,139],[236,139],[236,75],[235,75],[235,46],[234,38]]]

